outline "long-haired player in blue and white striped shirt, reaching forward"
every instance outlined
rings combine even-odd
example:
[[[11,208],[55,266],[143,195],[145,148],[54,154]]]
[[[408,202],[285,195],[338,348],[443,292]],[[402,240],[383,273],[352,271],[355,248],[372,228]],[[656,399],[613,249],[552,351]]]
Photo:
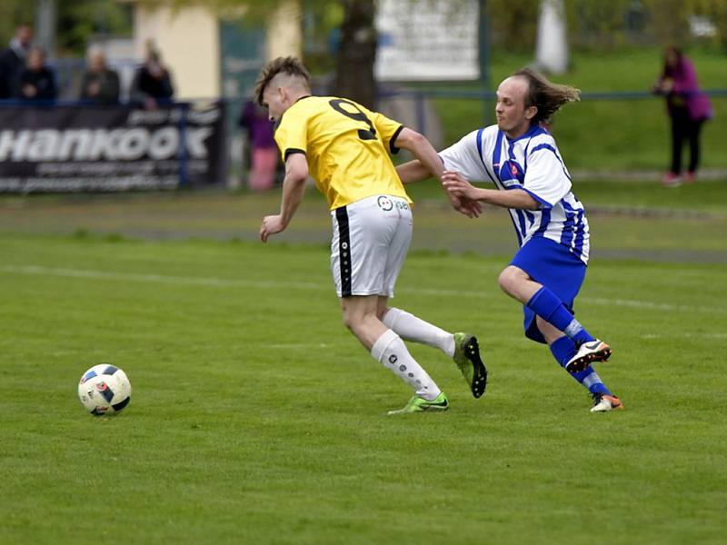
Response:
[[[593,395],[591,411],[601,412],[623,405],[591,366],[608,360],[611,347],[573,317],[588,263],[588,221],[555,140],[543,128],[579,94],[523,69],[497,89],[497,124],[465,135],[440,157],[448,192],[510,213],[520,250],[500,274],[500,287],[523,303],[525,335],[550,346],[555,360]],[[428,175],[419,162],[397,170],[404,183]],[[490,182],[496,189],[468,180]]]

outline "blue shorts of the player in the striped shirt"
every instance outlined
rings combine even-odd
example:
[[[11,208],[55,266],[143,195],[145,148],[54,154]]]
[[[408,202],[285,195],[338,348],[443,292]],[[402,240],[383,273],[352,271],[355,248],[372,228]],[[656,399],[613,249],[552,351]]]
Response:
[[[555,293],[569,312],[585,279],[586,265],[568,248],[542,236],[530,239],[515,253],[511,265],[523,269],[538,283]],[[523,306],[525,336],[536,342],[545,342],[535,322],[535,312]]]

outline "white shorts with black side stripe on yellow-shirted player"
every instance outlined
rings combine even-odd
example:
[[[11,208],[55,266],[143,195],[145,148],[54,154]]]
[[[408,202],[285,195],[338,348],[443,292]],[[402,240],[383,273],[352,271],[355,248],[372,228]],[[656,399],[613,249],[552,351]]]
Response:
[[[412,209],[401,197],[374,195],[331,212],[331,271],[339,297],[393,297],[412,242]]]

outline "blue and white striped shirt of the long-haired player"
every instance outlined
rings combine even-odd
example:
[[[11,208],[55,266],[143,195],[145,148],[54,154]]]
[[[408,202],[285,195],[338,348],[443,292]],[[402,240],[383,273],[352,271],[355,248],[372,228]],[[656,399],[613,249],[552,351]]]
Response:
[[[508,139],[497,125],[463,136],[441,152],[444,168],[471,182],[492,182],[498,189],[522,189],[540,203],[538,210],[508,208],[521,247],[542,236],[566,246],[583,263],[590,250],[588,220],[553,136],[533,126]]]

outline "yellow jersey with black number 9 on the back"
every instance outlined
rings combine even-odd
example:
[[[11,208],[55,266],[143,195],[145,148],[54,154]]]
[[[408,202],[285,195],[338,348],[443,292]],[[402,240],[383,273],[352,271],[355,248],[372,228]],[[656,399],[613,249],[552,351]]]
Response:
[[[412,203],[389,153],[403,125],[352,100],[305,96],[281,116],[275,142],[284,161],[305,154],[331,210],[375,194]]]

